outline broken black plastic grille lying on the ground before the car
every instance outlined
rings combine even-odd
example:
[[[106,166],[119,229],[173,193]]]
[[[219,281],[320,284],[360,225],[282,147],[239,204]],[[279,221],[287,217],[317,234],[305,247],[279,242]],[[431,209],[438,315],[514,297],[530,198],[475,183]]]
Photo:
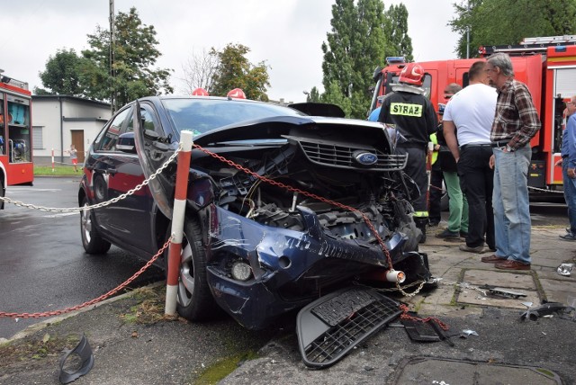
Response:
[[[333,314],[328,316],[327,309]],[[329,367],[400,314],[398,302],[367,288],[348,288],[322,297],[298,314],[302,360],[311,367]]]

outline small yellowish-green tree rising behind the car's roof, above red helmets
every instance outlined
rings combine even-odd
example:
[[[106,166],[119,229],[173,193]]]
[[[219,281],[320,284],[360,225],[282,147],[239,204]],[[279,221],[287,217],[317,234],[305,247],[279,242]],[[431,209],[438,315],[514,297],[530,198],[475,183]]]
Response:
[[[212,76],[211,88],[214,96],[226,96],[234,88],[242,88],[248,99],[268,101],[266,87],[270,86],[268,66],[261,61],[256,66],[246,58],[249,48],[242,44],[229,43],[224,49],[211,49],[218,58],[218,66]]]

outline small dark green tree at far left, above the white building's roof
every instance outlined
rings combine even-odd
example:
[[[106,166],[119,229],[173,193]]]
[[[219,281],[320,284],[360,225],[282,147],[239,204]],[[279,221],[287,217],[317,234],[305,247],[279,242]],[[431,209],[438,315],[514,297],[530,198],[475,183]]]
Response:
[[[40,72],[42,85],[48,90],[35,88],[34,93],[84,96],[78,72],[82,60],[74,49],[58,49],[54,56],[49,56],[46,69]]]

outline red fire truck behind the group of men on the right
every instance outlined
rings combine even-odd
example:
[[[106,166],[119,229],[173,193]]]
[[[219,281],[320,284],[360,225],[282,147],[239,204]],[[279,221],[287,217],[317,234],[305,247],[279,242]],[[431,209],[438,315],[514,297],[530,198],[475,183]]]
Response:
[[[562,189],[562,168],[554,166],[560,157],[564,103],[576,94],[576,35],[528,38],[519,45],[485,46],[482,58],[506,52],[512,59],[515,77],[527,84],[542,121],[542,129],[532,139],[532,165],[528,185],[534,192]],[[482,59],[480,58],[480,59]],[[479,58],[420,62],[424,68],[424,89],[432,103],[446,103],[444,89],[450,83],[468,85],[468,68]],[[370,111],[382,103],[391,85],[398,82],[402,58],[387,58],[387,66],[374,72],[374,97]]]

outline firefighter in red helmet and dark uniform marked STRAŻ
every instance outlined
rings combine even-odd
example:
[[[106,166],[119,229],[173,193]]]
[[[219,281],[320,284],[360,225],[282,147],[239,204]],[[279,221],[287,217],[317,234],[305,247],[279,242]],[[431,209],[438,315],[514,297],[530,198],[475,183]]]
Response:
[[[422,231],[420,243],[426,241],[428,225],[428,175],[426,172],[428,138],[437,131],[437,116],[432,103],[421,88],[424,69],[409,63],[400,73],[398,85],[392,85],[392,94],[383,100],[378,121],[394,124],[406,141],[399,143],[399,154],[408,154],[405,173],[418,185],[419,198],[412,201],[414,221]]]

